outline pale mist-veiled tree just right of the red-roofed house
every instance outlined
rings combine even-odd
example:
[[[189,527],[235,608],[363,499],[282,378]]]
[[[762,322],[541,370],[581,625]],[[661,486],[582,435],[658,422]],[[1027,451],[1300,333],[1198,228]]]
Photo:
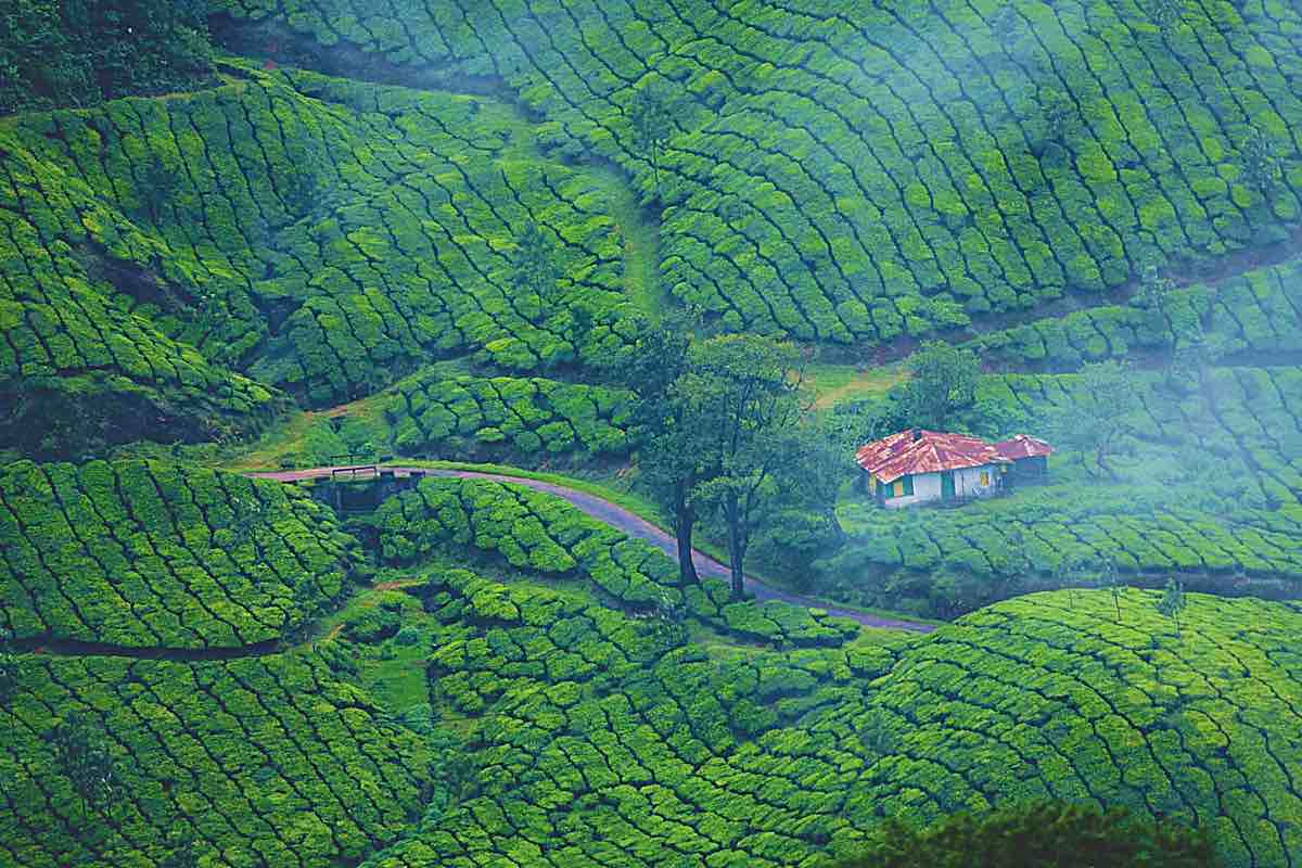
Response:
[[[1051,428],[1061,445],[1092,453],[1099,470],[1116,479],[1108,458],[1129,429],[1126,416],[1139,403],[1139,392],[1120,363],[1095,362],[1081,368],[1066,402],[1051,419]]]

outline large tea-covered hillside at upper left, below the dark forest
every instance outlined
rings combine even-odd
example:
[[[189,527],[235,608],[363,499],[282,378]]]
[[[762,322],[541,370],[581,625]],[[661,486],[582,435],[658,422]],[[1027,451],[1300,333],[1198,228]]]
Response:
[[[624,342],[602,178],[542,159],[513,108],[228,72],[240,81],[22,115],[0,133],[14,376],[116,366],[224,394],[207,357],[320,405],[431,357],[534,370]],[[546,299],[512,281],[527,220],[562,271]]]

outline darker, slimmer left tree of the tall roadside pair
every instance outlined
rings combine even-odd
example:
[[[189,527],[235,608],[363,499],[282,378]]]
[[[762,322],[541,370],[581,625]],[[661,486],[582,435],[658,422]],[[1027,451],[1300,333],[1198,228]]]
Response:
[[[680,580],[699,584],[691,560],[697,524],[691,489],[703,470],[700,432],[686,424],[685,406],[672,396],[674,383],[687,371],[690,345],[691,331],[685,320],[671,318],[658,327],[643,327],[618,372],[634,394],[629,435],[638,455],[638,481],[669,515],[678,547]]]

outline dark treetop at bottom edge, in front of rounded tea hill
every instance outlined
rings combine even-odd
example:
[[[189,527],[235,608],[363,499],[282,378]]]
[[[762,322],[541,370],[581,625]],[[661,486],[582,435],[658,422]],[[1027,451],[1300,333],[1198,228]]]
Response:
[[[858,859],[842,868],[1208,868],[1216,854],[1206,829],[1135,817],[1126,808],[1032,802],[987,813],[949,815],[926,829],[889,819]]]

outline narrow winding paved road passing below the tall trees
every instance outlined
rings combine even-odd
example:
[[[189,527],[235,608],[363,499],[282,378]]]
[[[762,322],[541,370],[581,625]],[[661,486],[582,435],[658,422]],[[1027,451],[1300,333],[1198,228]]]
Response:
[[[332,474],[340,474],[341,476],[348,476],[348,467],[312,467],[310,470],[283,470],[283,471],[268,471],[268,472],[250,472],[249,476],[255,476],[258,479],[272,479],[283,483],[302,481],[307,479],[329,479]],[[370,468],[366,468],[367,472]],[[538,479],[526,479],[523,476],[505,476],[501,474],[488,474],[479,472],[474,470],[431,470],[423,467],[391,467],[385,466],[385,470],[392,470],[400,476],[409,475],[411,472],[421,472],[427,476],[443,476],[450,479],[487,479],[490,481],[497,483],[510,483],[512,485],[523,485],[525,488],[533,488],[535,491],[547,492],[548,495],[555,495],[562,500],[569,501],[579,510],[587,513],[592,518],[617,527],[629,536],[637,536],[639,539],[651,543],[658,549],[668,554],[672,560],[677,562],[678,558],[678,545],[677,541],[665,534],[663,530],[646,521],[644,518],[630,513],[622,506],[617,506],[608,500],[603,500],[595,495],[589,495],[586,492],[577,491],[574,488],[566,488],[565,485],[557,485],[555,483],[544,483]],[[707,554],[702,554],[693,549],[691,560],[697,565],[697,573],[703,576],[715,576],[720,579],[728,579],[732,573],[727,566],[713,560]],[[788,593],[786,591],[780,591],[775,587],[764,584],[758,579],[746,576],[746,591],[751,593],[756,600],[781,600],[783,603],[790,603],[793,605],[806,606],[811,609],[823,609],[828,614],[838,616],[842,618],[850,618],[862,623],[866,627],[880,627],[885,630],[911,630],[914,632],[931,632],[936,627],[930,623],[921,623],[918,621],[905,621],[897,618],[879,618],[872,614],[865,614],[863,612],[855,612],[853,609],[840,609],[836,605],[829,605],[823,600],[816,600],[814,597],[806,597],[797,593]]]

